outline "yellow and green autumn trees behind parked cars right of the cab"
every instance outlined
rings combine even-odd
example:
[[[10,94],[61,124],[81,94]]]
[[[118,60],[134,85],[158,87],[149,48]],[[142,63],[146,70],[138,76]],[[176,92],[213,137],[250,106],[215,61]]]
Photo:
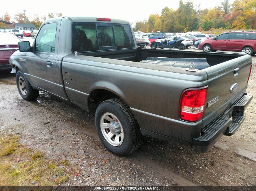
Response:
[[[134,31],[188,32],[214,29],[256,29],[256,0],[228,0],[218,7],[200,9],[193,2],[179,2],[177,10],[165,7],[161,15],[151,14],[148,19],[136,21]]]

